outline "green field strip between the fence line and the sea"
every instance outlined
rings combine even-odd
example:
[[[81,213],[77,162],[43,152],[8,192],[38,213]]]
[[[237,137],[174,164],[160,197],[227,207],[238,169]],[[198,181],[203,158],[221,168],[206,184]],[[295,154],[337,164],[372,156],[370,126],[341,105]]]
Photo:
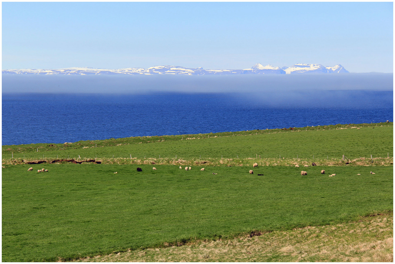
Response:
[[[79,157],[90,159],[108,158],[167,158],[167,159],[208,159],[208,158],[302,158],[349,159],[393,157],[393,126],[377,126],[308,130],[272,134],[252,134],[246,136],[223,136],[150,141],[150,143],[119,143],[119,145],[103,146],[92,142],[73,143],[67,149],[60,150],[56,146],[48,147],[40,144],[26,149],[26,146],[3,146],[3,163],[5,160],[56,159]],[[165,136],[166,137],[166,136]],[[125,138],[126,140],[128,138]],[[148,138],[150,139],[150,138]],[[117,142],[114,139],[113,141]],[[79,145],[81,144],[81,145]],[[71,146],[73,148],[71,148]],[[74,149],[75,147],[75,149]],[[37,151],[38,152],[34,152]],[[51,150],[54,148],[55,150]],[[21,151],[23,150],[23,151]],[[177,155],[177,159],[176,159]]]

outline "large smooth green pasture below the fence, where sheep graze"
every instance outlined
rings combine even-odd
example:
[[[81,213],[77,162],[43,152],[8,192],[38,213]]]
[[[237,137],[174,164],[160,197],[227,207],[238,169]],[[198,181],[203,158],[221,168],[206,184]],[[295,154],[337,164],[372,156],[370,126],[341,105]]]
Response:
[[[55,261],[356,219],[393,208],[393,168],[51,164],[2,169],[2,261]],[[44,167],[47,173],[37,173]],[[326,175],[320,173],[325,169]],[[114,172],[118,172],[114,174]],[[212,173],[218,173],[213,175]],[[328,174],[336,173],[335,177]],[[360,173],[361,175],[357,175]],[[263,174],[263,176],[258,176]]]

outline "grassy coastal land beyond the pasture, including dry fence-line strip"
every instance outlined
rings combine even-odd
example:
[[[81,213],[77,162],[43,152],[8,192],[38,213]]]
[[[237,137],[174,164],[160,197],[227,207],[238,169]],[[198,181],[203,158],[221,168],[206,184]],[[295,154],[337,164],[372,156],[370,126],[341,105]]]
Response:
[[[3,164],[390,165],[393,123],[3,145]],[[343,155],[345,158],[343,159]]]

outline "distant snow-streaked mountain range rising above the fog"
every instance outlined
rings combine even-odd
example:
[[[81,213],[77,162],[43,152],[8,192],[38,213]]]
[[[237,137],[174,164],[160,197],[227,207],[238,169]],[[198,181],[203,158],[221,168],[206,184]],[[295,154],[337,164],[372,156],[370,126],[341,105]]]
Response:
[[[232,75],[232,74],[300,74],[300,73],[348,73],[340,64],[333,67],[321,64],[297,63],[291,67],[275,67],[270,64],[263,66],[255,64],[249,69],[243,70],[204,70],[199,68],[185,68],[180,66],[154,66],[148,69],[143,68],[124,68],[124,69],[95,69],[89,67],[73,67],[65,69],[9,69],[2,70],[3,74],[62,74],[62,75],[88,75],[88,74],[181,74],[181,75]]]

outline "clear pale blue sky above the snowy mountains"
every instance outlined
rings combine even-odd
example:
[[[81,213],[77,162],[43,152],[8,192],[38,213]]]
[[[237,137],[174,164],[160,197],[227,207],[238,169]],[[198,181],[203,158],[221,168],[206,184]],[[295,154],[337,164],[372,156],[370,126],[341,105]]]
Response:
[[[2,69],[393,72],[392,2],[3,2]]]

